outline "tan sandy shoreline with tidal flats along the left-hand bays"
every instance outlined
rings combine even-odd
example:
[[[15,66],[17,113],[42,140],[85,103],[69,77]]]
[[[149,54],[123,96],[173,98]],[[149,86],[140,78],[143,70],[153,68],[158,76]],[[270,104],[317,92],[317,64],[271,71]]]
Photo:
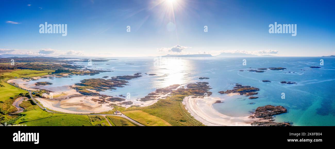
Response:
[[[63,74],[64,76],[67,76],[68,74]],[[45,76],[38,76],[38,77],[32,77],[32,79],[41,79],[44,77],[49,77],[49,76],[55,76],[55,75],[45,75]],[[19,87],[26,89],[26,90],[31,90],[31,91],[37,91],[39,90],[38,88],[35,88],[35,85],[24,85],[24,80],[23,78],[17,78],[17,79],[10,79],[7,80],[7,83],[13,83],[15,82],[16,85]],[[76,85],[72,85],[76,86]],[[96,90],[91,90],[91,92],[99,93],[99,91]],[[106,111],[112,110],[114,107],[110,106],[110,104],[118,104],[119,106],[122,107],[131,107],[131,105],[135,106],[149,106],[154,103],[156,103],[160,98],[168,96],[170,93],[167,94],[159,94],[156,95],[154,100],[148,100],[148,101],[133,101],[133,104],[127,105],[127,104],[120,104],[122,101],[115,101],[115,102],[108,102],[108,103],[98,103],[97,101],[92,101],[91,99],[93,98],[98,98],[101,96],[84,96],[77,92],[75,89],[72,89],[68,87],[68,90],[66,91],[56,91],[52,92],[53,93],[53,99],[47,99],[49,94],[43,93],[44,98],[36,98],[44,107],[54,110],[54,111],[59,111],[61,113],[68,113],[68,114],[91,114],[91,113],[102,113]],[[126,101],[132,101],[126,99]],[[55,106],[55,104],[58,104],[58,106]],[[78,111],[76,110],[69,110],[65,108],[77,108]],[[83,110],[83,111],[82,111]]]

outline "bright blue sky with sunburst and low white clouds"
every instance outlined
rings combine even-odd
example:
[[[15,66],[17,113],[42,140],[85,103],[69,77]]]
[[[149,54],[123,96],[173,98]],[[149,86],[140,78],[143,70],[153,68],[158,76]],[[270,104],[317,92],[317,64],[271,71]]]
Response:
[[[334,4],[303,0],[4,0],[0,54],[335,55]],[[67,36],[39,33],[39,25],[45,22],[67,24]],[[172,29],[167,28],[170,22],[175,26]],[[274,22],[297,24],[296,36],[269,33],[269,24]],[[204,32],[205,25],[208,32]]]

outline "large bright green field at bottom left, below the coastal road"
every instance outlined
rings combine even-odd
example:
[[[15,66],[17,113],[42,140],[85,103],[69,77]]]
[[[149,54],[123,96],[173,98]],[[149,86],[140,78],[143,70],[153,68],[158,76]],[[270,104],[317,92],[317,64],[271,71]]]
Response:
[[[85,115],[57,114],[52,117],[21,123],[27,126],[92,126]]]

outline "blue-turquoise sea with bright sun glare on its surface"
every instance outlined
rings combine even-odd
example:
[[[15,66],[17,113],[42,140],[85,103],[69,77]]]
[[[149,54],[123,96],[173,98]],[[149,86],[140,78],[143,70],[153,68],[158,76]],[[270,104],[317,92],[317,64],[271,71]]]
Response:
[[[122,76],[142,73],[143,77],[129,80],[125,87],[100,92],[106,95],[127,95],[134,102],[157,88],[172,84],[209,82],[212,97],[220,97],[223,103],[214,108],[228,116],[248,116],[258,106],[282,105],[288,112],[277,115],[275,122],[290,122],[294,126],[335,126],[335,58],[329,57],[246,57],[246,58],[108,58],[108,62],[76,63],[88,69],[110,70],[94,76],[71,78],[43,78],[30,81],[33,84],[48,81],[53,85],[41,86],[52,91],[66,90],[69,85],[87,78]],[[243,65],[243,59],[247,65]],[[324,65],[320,66],[320,59]],[[319,66],[321,68],[310,68]],[[285,70],[265,70],[263,73],[247,70],[269,67],[284,67]],[[244,70],[244,71],[240,71]],[[147,75],[147,74],[157,75]],[[199,80],[199,77],[210,79]],[[108,78],[107,78],[108,79]],[[269,80],[271,82],[262,82]],[[281,81],[296,84],[281,84]],[[260,89],[257,99],[246,96],[221,95],[218,91],[232,89],[235,83]],[[285,99],[282,99],[285,93]],[[255,104],[250,104],[254,102]]]

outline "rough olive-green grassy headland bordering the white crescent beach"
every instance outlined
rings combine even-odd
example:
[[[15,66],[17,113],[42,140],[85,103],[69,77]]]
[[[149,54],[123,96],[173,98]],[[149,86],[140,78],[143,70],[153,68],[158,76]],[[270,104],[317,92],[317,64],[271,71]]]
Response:
[[[165,120],[172,126],[204,126],[201,122],[194,119],[185,109],[182,103],[185,96],[186,95],[173,95],[166,99],[160,99],[153,105],[147,107],[132,107],[126,110],[142,110],[149,115]],[[125,111],[122,113],[124,112]]]

